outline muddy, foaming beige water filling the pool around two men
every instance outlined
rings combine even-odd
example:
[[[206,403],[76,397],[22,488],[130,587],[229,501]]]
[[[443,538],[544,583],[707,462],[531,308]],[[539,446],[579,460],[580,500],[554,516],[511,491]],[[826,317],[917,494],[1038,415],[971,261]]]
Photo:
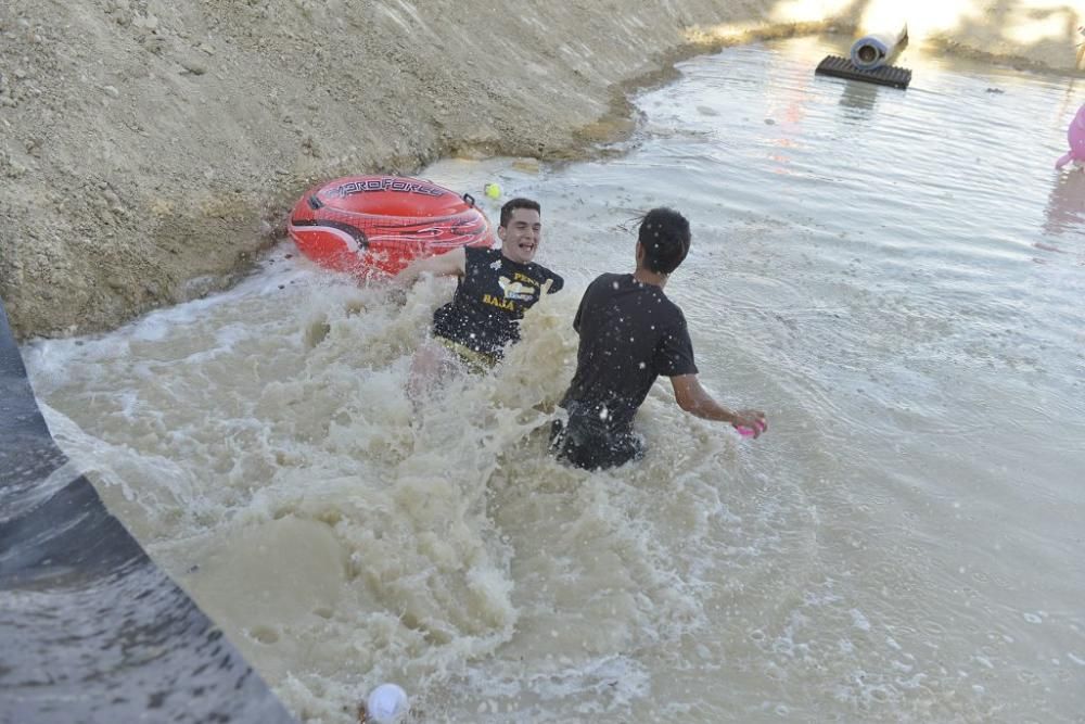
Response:
[[[909,49],[902,92],[815,78],[827,52],[686,63],[601,161],[426,169],[538,198],[566,289],[418,410],[410,357],[454,282],[400,305],[284,246],[226,294],[27,345],[49,423],[305,720],[355,721],[388,681],[427,722],[1068,719],[1085,207],[1049,166],[1071,81]],[[702,381],[773,428],[744,441],[664,381],[642,462],[563,467],[579,293],[631,270],[659,204],[693,224],[667,293]]]

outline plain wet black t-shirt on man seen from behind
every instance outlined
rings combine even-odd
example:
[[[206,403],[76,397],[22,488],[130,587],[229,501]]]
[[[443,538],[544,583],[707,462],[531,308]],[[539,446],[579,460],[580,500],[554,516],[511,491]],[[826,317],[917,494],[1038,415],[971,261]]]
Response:
[[[561,402],[610,432],[628,432],[655,379],[695,374],[686,317],[663,290],[631,274],[604,274],[584,292],[573,328],[576,374]],[[598,420],[598,422],[597,422]]]

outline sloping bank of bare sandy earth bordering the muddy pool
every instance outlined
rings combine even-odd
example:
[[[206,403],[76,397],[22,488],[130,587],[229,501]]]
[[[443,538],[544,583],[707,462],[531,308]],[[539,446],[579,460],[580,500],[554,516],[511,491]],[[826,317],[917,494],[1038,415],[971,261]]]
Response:
[[[625,92],[682,55],[861,22],[829,0],[176,4],[0,5],[0,297],[21,338],[229,284],[314,180],[569,157],[627,129]],[[924,5],[912,42],[1074,72],[1067,5]]]

